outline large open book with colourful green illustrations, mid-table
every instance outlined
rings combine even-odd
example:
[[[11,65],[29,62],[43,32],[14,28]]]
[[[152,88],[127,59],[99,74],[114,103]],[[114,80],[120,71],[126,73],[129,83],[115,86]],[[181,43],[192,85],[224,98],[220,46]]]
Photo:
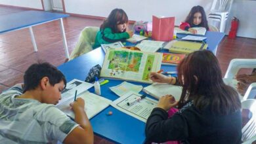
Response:
[[[100,77],[152,83],[149,74],[159,71],[162,54],[125,48],[108,49]]]

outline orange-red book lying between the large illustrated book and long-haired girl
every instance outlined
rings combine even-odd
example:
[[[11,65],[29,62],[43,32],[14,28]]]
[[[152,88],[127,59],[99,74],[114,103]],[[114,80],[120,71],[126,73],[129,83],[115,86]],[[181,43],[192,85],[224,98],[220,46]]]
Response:
[[[163,58],[161,60],[162,65],[177,65],[185,58],[186,54],[171,54],[163,53]]]

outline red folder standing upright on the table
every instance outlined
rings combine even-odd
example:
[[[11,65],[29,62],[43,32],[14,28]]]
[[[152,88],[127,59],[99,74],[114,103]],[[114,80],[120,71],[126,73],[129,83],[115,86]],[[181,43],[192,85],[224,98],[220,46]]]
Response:
[[[173,39],[175,17],[152,18],[152,39],[156,41],[171,41]]]

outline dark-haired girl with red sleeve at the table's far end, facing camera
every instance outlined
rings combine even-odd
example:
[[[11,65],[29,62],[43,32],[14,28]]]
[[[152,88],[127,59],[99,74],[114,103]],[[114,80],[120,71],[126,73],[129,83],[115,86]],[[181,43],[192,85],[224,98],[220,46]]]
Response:
[[[193,29],[193,27],[205,27],[205,29],[209,31],[208,22],[203,7],[200,5],[192,7],[188,16],[186,16],[186,20],[181,22],[179,27],[182,30],[190,31],[194,34],[196,34],[197,31],[196,29]]]

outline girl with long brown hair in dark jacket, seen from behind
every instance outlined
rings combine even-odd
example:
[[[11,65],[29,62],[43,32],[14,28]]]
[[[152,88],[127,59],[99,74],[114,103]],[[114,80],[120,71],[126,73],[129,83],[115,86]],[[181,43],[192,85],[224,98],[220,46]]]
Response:
[[[160,98],[146,122],[145,143],[241,143],[241,102],[224,84],[219,62],[208,50],[188,54],[177,66],[178,77],[150,73],[153,82],[180,84],[180,99]],[[179,111],[168,118],[169,109]]]

